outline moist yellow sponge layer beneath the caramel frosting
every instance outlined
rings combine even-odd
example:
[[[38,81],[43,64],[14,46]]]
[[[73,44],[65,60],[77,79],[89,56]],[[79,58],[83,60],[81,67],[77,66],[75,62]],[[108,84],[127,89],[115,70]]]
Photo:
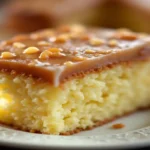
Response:
[[[0,73],[0,121],[22,130],[72,134],[150,106],[150,62],[120,63],[59,87]]]

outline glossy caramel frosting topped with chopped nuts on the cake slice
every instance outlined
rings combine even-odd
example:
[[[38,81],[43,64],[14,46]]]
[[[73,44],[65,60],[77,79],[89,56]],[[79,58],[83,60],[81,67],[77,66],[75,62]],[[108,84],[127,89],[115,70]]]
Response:
[[[145,60],[149,55],[150,37],[146,34],[64,25],[2,41],[0,69],[59,86],[73,75]]]

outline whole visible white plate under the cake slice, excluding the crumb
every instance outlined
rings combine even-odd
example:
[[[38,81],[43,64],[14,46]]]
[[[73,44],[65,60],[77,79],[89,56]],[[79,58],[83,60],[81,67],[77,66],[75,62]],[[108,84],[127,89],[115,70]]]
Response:
[[[34,148],[131,148],[150,145],[150,110],[137,112],[102,127],[72,136],[27,133],[0,127],[0,144]],[[123,123],[122,129],[111,129]]]

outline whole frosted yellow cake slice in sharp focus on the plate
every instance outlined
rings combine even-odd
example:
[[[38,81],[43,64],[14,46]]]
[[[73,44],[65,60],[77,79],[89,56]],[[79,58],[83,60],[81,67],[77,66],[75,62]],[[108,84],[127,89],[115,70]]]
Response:
[[[0,44],[0,121],[70,135],[150,107],[150,37],[60,26]]]

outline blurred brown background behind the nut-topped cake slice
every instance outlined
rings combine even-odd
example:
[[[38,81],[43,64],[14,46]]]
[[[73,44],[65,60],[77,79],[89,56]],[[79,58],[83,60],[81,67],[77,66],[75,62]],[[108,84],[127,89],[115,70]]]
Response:
[[[0,39],[72,23],[150,33],[150,0],[0,0]]]

